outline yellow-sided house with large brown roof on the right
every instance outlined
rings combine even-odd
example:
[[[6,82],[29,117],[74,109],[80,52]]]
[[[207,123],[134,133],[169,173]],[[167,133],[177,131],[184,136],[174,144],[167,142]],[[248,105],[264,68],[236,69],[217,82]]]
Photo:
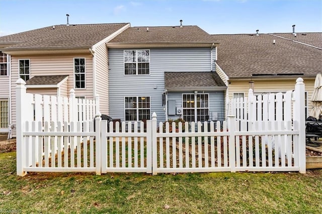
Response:
[[[322,72],[322,33],[212,35],[218,41],[216,71],[229,98],[286,92],[305,83],[306,114],[317,73]],[[306,115],[307,117],[307,115]]]

